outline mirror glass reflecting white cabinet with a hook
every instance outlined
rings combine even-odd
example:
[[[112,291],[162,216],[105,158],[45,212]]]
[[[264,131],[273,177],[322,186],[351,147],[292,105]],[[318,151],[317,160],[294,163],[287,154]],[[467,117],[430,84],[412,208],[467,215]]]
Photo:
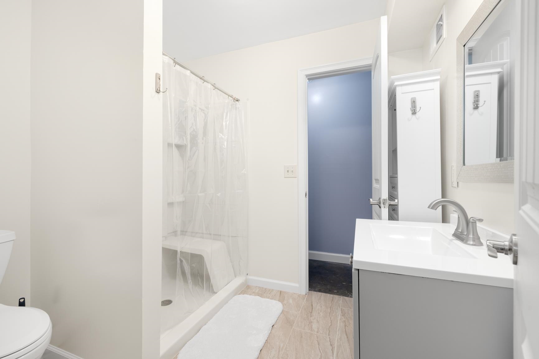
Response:
[[[464,47],[465,165],[514,156],[514,1],[497,4]]]

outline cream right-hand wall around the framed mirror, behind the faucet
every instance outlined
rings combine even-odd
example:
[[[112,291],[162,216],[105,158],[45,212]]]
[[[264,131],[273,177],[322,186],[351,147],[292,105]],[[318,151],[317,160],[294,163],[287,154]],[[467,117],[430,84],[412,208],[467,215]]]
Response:
[[[485,219],[485,226],[505,233],[513,231],[513,184],[483,184],[459,182],[451,187],[451,165],[457,162],[457,37],[481,4],[481,0],[453,0],[445,5],[447,37],[432,61],[429,61],[429,41],[423,47],[423,70],[441,68],[441,174],[442,195],[454,199],[466,208],[470,216]],[[449,222],[451,209],[443,209],[444,222]]]

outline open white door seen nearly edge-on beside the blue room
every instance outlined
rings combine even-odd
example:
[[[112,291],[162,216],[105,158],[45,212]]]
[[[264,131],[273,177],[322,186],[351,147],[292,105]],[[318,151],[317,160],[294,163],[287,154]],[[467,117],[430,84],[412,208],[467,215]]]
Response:
[[[388,17],[372,56],[372,219],[388,219]]]

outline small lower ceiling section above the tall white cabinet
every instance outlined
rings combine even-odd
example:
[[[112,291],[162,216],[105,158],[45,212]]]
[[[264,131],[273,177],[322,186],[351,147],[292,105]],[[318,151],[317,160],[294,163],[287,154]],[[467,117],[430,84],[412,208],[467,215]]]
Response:
[[[423,47],[446,0],[396,0],[388,29],[388,52]]]

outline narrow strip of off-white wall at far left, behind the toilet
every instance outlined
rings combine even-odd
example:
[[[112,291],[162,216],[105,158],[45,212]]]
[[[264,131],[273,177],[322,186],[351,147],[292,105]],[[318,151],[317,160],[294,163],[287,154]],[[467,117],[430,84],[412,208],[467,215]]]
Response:
[[[31,0],[0,0],[0,229],[17,240],[0,285],[0,303],[30,304]]]

